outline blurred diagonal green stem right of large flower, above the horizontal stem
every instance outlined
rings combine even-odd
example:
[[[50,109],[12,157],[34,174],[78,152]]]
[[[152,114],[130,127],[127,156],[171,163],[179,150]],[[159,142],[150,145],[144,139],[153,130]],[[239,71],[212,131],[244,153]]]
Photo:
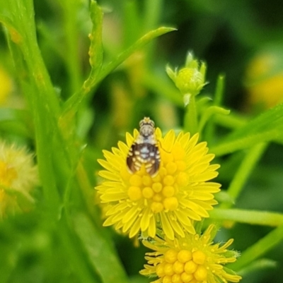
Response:
[[[233,198],[233,200],[236,201],[238,195],[243,190],[248,177],[253,171],[255,165],[258,163],[258,160],[262,156],[263,152],[265,152],[266,147],[267,143],[259,143],[258,145],[255,145],[248,151],[246,157],[241,162],[241,165],[238,168],[238,171],[236,171],[236,174],[234,175],[233,180],[231,181],[227,190],[227,193],[231,198]],[[231,205],[231,203],[222,203],[221,207],[229,208]]]

